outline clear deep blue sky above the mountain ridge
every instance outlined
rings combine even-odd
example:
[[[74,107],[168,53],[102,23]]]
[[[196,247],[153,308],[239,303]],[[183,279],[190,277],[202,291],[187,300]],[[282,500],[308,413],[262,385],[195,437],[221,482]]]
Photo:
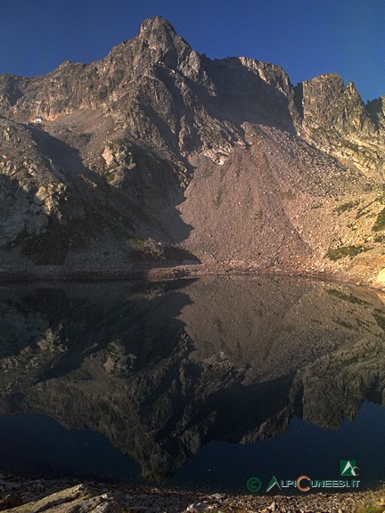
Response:
[[[337,72],[365,101],[385,94],[385,0],[0,0],[0,73],[96,61],[156,15],[211,58],[274,62],[293,84]]]

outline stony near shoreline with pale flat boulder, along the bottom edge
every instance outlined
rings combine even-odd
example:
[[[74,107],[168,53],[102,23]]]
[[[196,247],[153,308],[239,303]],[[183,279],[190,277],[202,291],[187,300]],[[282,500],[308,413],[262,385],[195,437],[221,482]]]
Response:
[[[0,475],[4,513],[382,513],[385,486],[355,493],[232,495]]]

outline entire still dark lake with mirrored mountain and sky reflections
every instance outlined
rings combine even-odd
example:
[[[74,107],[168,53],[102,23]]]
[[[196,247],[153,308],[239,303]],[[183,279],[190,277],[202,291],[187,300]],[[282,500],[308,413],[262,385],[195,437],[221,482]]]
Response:
[[[272,476],[385,479],[373,290],[277,277],[3,286],[0,381],[3,472],[239,493],[251,476],[262,491]],[[359,477],[341,477],[340,460]]]

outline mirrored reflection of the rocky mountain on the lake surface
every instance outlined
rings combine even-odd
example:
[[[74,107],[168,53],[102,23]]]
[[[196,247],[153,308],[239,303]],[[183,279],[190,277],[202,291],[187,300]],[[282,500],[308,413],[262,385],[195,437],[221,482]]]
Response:
[[[162,480],[210,440],[385,405],[384,329],[373,291],[294,279],[3,288],[0,412],[100,431]]]

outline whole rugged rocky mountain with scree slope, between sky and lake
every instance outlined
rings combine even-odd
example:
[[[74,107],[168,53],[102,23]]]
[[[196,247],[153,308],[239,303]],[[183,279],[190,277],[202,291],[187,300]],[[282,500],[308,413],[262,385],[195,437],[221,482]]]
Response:
[[[199,263],[381,286],[385,100],[210,60],[167,20],[102,61],[0,77],[0,265]]]

